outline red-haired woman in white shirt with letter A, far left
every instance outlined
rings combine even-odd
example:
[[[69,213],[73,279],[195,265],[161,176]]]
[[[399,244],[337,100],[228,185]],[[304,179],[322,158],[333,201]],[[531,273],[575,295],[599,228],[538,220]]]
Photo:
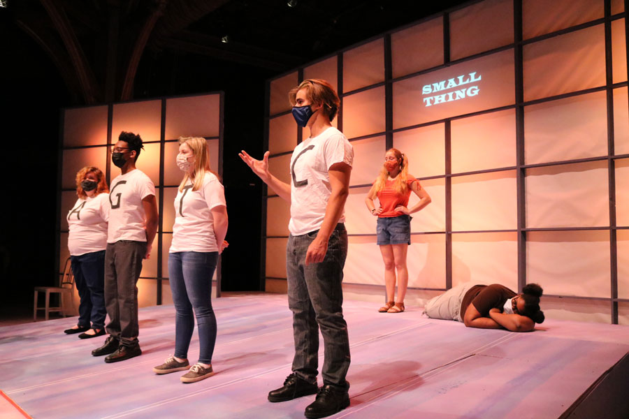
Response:
[[[68,212],[68,249],[74,283],[80,297],[77,325],[64,330],[81,339],[105,334],[105,248],[109,219],[109,189],[99,168],[88,166],[76,174],[78,200]]]

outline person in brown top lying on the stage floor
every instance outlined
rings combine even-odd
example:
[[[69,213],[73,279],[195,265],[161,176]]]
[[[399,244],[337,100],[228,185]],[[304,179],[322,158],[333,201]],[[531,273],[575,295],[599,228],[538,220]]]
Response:
[[[537,284],[527,284],[517,294],[500,284],[467,282],[429,300],[424,312],[430,318],[461,321],[468,328],[530,332],[544,321],[542,292]]]

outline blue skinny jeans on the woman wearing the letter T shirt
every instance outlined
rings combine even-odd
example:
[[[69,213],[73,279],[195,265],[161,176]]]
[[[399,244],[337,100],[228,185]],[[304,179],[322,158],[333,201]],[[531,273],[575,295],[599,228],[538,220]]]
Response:
[[[180,251],[168,253],[168,279],[175,303],[175,356],[188,358],[194,331],[198,326],[198,362],[212,363],[216,343],[216,316],[212,310],[212,276],[218,252]]]

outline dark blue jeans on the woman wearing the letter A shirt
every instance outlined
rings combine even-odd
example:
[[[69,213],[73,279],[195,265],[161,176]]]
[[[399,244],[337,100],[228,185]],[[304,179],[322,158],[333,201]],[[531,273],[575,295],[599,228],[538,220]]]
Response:
[[[81,297],[78,325],[105,327],[105,251],[70,256],[74,283]]]

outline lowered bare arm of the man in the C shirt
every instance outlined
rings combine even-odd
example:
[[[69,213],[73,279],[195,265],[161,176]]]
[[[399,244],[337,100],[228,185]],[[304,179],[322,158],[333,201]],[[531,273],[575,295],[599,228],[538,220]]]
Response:
[[[322,262],[326,257],[328,240],[343,213],[345,201],[347,196],[349,196],[349,175],[351,173],[352,166],[346,163],[335,163],[328,170],[332,193],[328,199],[326,214],[323,223],[321,223],[321,228],[319,228],[319,233],[317,233],[317,237],[308,247],[305,259],[306,265],[308,263]]]

